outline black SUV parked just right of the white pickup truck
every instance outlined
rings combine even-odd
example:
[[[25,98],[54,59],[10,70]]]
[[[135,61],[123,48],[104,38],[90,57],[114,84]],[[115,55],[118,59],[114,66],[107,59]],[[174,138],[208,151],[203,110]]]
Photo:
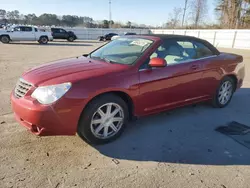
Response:
[[[54,39],[66,39],[69,42],[73,42],[77,39],[73,31],[66,31],[62,28],[51,28],[51,32]]]

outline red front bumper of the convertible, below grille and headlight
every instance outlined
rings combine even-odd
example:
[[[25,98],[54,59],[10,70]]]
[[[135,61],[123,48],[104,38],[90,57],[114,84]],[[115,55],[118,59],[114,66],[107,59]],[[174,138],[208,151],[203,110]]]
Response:
[[[81,108],[70,108],[67,100],[60,103],[62,105],[41,105],[29,96],[17,99],[11,94],[16,120],[38,136],[76,134]]]

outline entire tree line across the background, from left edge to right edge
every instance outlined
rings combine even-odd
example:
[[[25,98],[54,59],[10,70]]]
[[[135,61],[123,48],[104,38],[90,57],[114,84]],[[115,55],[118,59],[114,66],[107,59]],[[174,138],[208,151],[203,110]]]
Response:
[[[183,0],[184,2],[184,0]],[[145,24],[114,22],[109,20],[93,20],[88,16],[44,13],[21,14],[18,10],[0,9],[0,24],[28,24],[46,26],[68,26],[88,28],[169,28],[169,29],[241,29],[250,28],[250,0],[214,0],[216,4],[214,16],[208,13],[208,0],[186,0],[183,7],[174,7],[168,20],[161,26],[153,27]],[[211,1],[209,1],[211,3]],[[185,16],[184,16],[185,15]],[[209,22],[209,19],[215,18]]]

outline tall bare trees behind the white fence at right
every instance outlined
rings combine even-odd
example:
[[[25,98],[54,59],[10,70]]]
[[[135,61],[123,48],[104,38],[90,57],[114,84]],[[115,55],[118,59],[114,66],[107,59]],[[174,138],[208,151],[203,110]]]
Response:
[[[214,0],[214,15],[208,13],[207,0],[187,0],[187,14],[182,23],[183,9],[175,7],[169,14],[166,28],[243,29],[250,28],[250,0]],[[211,1],[209,1],[211,3]],[[215,18],[212,22],[209,19]]]

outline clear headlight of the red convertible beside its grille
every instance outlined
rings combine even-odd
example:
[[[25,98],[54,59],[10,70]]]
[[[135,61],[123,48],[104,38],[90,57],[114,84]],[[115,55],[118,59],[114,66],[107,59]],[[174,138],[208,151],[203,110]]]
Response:
[[[31,97],[37,99],[41,104],[51,104],[60,99],[71,87],[71,83],[64,83],[36,88]]]

